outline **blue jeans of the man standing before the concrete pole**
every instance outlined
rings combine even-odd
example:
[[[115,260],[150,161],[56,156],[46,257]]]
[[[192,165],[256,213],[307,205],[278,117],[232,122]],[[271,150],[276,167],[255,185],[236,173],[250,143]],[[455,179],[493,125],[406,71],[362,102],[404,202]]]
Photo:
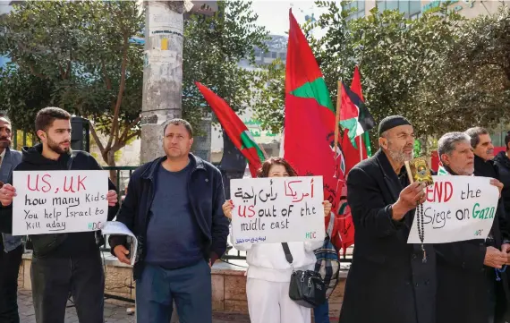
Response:
[[[205,260],[172,270],[146,264],[136,282],[137,321],[168,323],[175,302],[180,323],[212,323],[211,299],[211,272]]]

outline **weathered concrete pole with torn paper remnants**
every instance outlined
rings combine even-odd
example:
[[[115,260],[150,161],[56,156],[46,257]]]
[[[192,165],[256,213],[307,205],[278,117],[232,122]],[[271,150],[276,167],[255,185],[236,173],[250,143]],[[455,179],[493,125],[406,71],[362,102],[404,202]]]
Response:
[[[146,8],[140,162],[164,155],[163,126],[182,116],[183,1],[144,1]]]

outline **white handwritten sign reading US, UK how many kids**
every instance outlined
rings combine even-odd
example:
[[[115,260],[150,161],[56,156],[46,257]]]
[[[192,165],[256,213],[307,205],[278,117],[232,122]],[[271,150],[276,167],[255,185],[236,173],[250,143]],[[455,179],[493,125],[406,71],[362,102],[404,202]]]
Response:
[[[107,171],[13,172],[13,234],[96,231],[108,214]]]

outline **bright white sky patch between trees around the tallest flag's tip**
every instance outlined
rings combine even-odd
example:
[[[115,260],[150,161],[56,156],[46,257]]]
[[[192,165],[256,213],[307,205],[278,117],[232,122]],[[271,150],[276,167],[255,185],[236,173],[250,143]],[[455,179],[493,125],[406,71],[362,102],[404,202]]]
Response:
[[[275,0],[253,0],[251,5],[254,13],[259,14],[259,24],[266,26],[273,35],[285,35],[289,30],[289,9],[293,9],[293,15],[298,23],[305,21],[305,15],[314,13],[316,18],[325,10],[315,6],[314,1],[275,1]]]

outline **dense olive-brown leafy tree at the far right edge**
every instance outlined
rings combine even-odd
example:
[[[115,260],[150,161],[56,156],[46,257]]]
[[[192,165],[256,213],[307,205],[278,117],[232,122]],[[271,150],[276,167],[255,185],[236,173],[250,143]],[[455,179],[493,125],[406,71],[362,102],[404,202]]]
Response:
[[[436,64],[418,99],[429,102],[438,129],[494,128],[510,119],[510,9],[480,15],[454,30],[455,43]]]

